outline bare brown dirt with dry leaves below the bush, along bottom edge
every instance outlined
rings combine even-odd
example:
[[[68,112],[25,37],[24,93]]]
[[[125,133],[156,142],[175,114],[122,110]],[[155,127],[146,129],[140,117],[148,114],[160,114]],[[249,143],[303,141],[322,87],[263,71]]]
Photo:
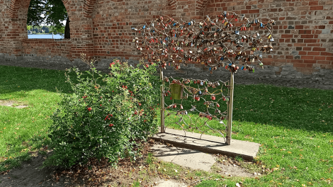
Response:
[[[52,167],[40,169],[46,155],[38,154],[30,162],[25,162],[18,169],[0,173],[0,186],[33,187],[33,186],[195,186],[202,177],[197,176],[201,170],[180,166],[170,167],[168,162],[161,162],[151,157],[152,149],[157,142],[150,140],[138,149],[142,157],[133,162],[130,158],[120,159],[117,168],[112,167],[107,159],[98,162],[90,159],[90,166],[75,165],[71,169],[55,169]],[[158,143],[159,144],[159,143]],[[52,152],[48,153],[48,155]],[[214,155],[217,162],[207,175],[218,174],[223,178],[233,176],[254,177],[247,169],[242,169],[242,162],[230,157]],[[244,163],[243,163],[244,164]],[[252,163],[251,163],[252,164]],[[178,171],[177,171],[178,170]],[[212,178],[210,178],[212,179]]]

